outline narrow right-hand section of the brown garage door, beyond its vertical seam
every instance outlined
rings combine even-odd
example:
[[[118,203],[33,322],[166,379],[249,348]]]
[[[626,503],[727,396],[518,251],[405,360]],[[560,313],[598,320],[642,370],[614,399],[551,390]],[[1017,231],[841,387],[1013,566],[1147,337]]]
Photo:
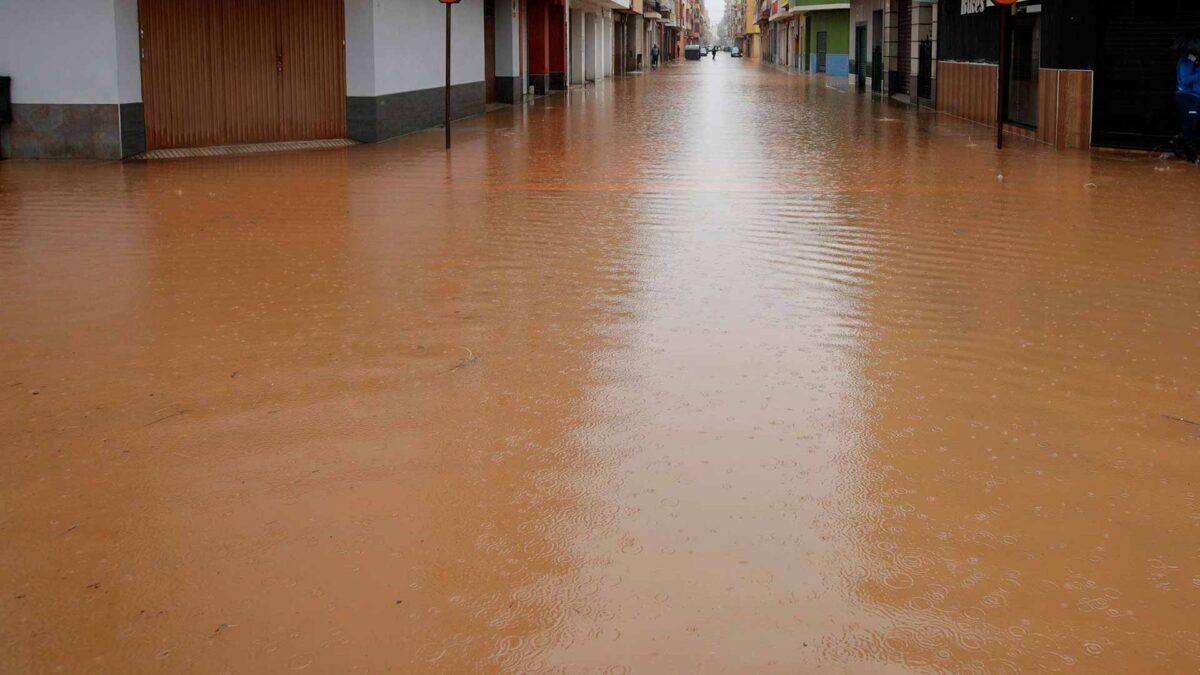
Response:
[[[346,137],[342,0],[275,0],[280,11],[280,138]]]

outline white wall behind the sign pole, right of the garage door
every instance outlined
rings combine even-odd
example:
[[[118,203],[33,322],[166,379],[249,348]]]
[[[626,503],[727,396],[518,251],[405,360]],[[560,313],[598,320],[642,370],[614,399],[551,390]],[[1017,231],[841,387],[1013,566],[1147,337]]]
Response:
[[[444,86],[445,6],[434,0],[374,0],[373,12],[374,95]],[[484,0],[462,0],[452,16],[450,83],[480,82]]]

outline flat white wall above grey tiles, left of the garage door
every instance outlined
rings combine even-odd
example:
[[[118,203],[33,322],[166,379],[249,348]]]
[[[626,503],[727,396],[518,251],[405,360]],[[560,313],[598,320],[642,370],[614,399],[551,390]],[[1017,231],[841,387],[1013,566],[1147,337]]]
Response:
[[[120,102],[113,2],[0,0],[0,73],[14,103]]]

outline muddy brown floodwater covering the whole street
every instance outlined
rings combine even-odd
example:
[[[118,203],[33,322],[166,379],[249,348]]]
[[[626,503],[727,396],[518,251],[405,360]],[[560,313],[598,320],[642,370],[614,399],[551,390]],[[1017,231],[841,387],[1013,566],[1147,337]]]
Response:
[[[1200,668],[1194,168],[730,59],[456,133],[0,163],[0,670]]]

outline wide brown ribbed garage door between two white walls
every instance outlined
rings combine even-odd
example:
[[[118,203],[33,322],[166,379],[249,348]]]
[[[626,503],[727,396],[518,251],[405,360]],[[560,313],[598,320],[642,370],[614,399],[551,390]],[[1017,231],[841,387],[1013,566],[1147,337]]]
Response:
[[[140,0],[146,148],[346,136],[342,0]]]

